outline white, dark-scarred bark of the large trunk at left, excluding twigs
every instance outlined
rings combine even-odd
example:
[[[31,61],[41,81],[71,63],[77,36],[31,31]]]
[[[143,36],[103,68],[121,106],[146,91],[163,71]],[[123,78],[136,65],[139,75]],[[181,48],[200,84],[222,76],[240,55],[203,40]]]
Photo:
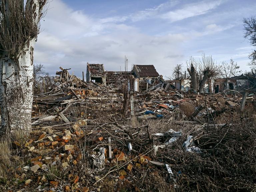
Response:
[[[7,0],[8,3],[8,0]],[[26,8],[37,25],[41,9],[39,0],[28,0]],[[6,10],[8,12],[8,10]],[[0,103],[2,126],[0,136],[15,129],[29,133],[33,103],[33,50],[36,37],[28,38],[17,60],[7,51],[0,53]]]

